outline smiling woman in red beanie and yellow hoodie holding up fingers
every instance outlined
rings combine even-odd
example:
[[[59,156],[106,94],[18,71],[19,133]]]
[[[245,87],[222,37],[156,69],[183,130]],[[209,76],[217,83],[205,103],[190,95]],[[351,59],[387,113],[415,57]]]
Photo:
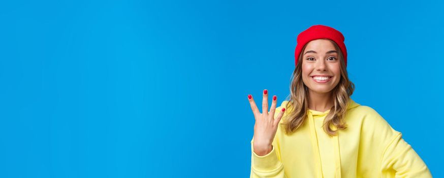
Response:
[[[255,115],[250,177],[431,177],[418,154],[371,107],[354,102],[343,35],[313,25],[297,37],[291,95]],[[282,118],[282,119],[281,119]]]

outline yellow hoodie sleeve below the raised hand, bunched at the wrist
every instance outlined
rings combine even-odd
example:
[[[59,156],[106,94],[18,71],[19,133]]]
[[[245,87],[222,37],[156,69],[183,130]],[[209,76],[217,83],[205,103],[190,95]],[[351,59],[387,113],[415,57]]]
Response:
[[[280,107],[276,108],[276,111],[280,111]],[[275,117],[279,112],[275,113]],[[282,120],[281,120],[282,121]],[[259,156],[253,151],[253,139],[251,139],[251,171],[250,178],[256,177],[274,177],[284,178],[283,164],[280,161],[279,144],[278,144],[279,128],[276,132],[273,142],[272,150],[270,153],[264,156]]]

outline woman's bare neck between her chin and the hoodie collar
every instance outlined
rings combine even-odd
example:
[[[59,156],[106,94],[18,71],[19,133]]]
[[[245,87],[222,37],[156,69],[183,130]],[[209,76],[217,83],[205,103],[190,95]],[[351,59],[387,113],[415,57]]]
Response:
[[[333,107],[334,103],[331,97],[331,92],[328,93],[316,93],[311,90],[308,91],[308,108],[315,111],[325,112],[331,107]]]

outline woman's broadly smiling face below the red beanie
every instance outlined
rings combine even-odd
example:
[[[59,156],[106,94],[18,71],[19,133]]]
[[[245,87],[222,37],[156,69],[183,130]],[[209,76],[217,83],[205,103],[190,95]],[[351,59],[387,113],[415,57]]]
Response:
[[[312,40],[302,52],[302,80],[309,92],[331,92],[341,78],[339,54],[333,42]]]

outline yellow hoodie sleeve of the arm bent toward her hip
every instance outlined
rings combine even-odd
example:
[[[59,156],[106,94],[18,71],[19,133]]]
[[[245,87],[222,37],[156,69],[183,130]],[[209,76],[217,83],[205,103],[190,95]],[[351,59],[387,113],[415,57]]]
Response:
[[[393,138],[382,158],[383,175],[395,177],[432,177],[430,170],[413,148],[402,139],[402,134]]]

